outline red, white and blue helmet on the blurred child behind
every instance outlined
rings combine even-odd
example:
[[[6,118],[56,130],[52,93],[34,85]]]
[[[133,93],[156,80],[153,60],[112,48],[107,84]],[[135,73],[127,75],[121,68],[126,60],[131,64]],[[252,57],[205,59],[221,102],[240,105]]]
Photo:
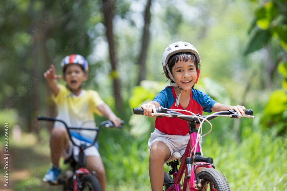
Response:
[[[61,68],[62,68],[63,72],[64,72],[65,67],[67,66],[67,64],[80,64],[82,66],[82,69],[85,72],[88,72],[88,70],[89,70],[89,66],[88,66],[87,60],[83,56],[81,56],[79,54],[71,54],[69,56],[66,56],[62,60]]]

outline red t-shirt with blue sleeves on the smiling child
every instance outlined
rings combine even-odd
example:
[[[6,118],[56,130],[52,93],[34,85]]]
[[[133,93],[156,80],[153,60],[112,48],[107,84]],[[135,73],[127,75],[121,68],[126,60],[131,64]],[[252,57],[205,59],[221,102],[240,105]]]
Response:
[[[167,86],[164,90],[159,92],[153,101],[160,103],[160,106],[168,109],[183,109],[179,104],[175,106],[177,99],[173,86]],[[197,89],[191,88],[189,104],[185,110],[191,111],[195,114],[202,115],[202,111],[211,112],[212,106],[216,103],[208,94],[203,93]],[[191,115],[188,112],[181,112],[186,115]],[[156,117],[156,129],[168,135],[186,135],[189,132],[187,121],[179,118],[170,117]]]

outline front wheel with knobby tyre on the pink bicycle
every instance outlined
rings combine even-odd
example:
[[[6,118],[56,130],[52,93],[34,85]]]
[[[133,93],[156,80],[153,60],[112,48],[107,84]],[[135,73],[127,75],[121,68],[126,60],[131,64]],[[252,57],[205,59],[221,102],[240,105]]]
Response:
[[[212,191],[230,191],[226,178],[214,168],[205,168],[198,173],[198,176],[199,179],[203,179],[200,191],[205,189]]]

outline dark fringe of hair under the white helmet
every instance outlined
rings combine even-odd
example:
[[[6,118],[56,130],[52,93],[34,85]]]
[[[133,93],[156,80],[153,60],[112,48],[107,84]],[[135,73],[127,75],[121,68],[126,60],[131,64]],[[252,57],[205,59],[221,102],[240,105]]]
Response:
[[[172,56],[170,56],[170,58],[168,59],[167,65],[168,65],[168,68],[169,68],[171,74],[172,74],[172,68],[173,68],[175,63],[180,62],[180,61],[187,62],[189,60],[191,62],[194,62],[196,69],[198,69],[197,68],[198,59],[191,52],[179,52],[179,53],[176,53],[176,54],[173,54]],[[167,70],[165,70],[165,74],[166,74],[166,76],[168,76]],[[168,78],[170,79],[170,77],[168,77]]]

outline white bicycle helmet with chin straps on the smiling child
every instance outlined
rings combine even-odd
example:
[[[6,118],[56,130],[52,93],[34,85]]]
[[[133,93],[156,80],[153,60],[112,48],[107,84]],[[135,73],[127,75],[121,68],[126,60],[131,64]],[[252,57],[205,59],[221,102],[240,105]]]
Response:
[[[199,78],[199,72],[200,72],[200,70],[199,70],[199,63],[200,63],[199,54],[198,54],[196,48],[192,44],[190,44],[188,42],[179,41],[179,42],[175,42],[175,43],[170,44],[164,50],[164,53],[162,55],[162,67],[163,67],[164,74],[166,75],[167,78],[169,78],[169,76],[167,74],[167,72],[168,72],[170,77],[171,77],[171,79],[172,79],[172,82],[170,82],[170,85],[171,86],[175,86],[175,87],[179,87],[174,82],[174,78],[173,78],[173,76],[172,76],[172,74],[170,72],[170,69],[168,68],[168,64],[167,64],[168,63],[168,59],[170,58],[170,56],[172,56],[173,54],[177,54],[179,52],[191,52],[197,58],[197,60],[198,60],[198,64],[197,64],[197,79],[195,81],[195,83],[197,83],[197,80]],[[166,72],[166,70],[167,70],[167,72]],[[194,87],[194,85],[193,85],[193,87]],[[182,92],[182,90],[181,90],[181,92]],[[179,105],[179,99],[180,99],[181,92],[177,96],[177,99],[176,99],[176,102],[175,102],[175,106]]]

